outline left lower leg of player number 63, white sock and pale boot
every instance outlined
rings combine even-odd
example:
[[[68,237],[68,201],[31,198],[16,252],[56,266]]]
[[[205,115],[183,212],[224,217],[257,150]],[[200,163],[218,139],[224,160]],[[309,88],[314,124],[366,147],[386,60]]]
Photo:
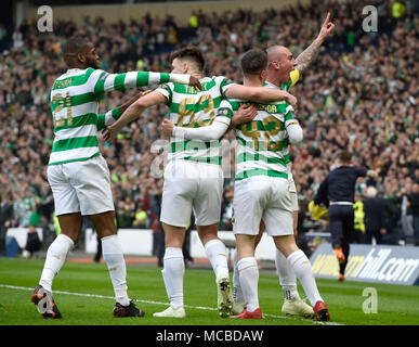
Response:
[[[182,246],[185,239],[185,228],[173,227],[161,223],[165,230],[165,262],[161,274],[165,281],[166,292],[169,297],[170,307],[161,312],[156,312],[154,317],[186,317],[183,307],[183,277],[185,274],[185,264],[183,261]]]

